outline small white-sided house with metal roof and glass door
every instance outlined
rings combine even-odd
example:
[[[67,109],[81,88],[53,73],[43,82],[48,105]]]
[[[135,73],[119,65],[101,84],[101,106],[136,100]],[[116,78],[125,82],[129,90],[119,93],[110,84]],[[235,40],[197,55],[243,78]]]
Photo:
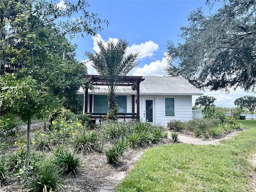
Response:
[[[84,113],[108,112],[108,86],[100,76],[91,76],[94,90],[84,94]],[[118,112],[134,113],[142,121],[162,124],[170,120],[192,119],[192,96],[203,95],[182,77],[126,76],[116,89]]]

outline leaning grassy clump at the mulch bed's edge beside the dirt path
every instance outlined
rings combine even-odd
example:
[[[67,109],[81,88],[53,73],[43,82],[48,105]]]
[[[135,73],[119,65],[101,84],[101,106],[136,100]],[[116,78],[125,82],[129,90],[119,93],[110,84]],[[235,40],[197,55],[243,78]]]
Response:
[[[108,158],[108,163],[118,164],[124,151],[129,147],[129,142],[126,139],[116,140],[104,153]]]

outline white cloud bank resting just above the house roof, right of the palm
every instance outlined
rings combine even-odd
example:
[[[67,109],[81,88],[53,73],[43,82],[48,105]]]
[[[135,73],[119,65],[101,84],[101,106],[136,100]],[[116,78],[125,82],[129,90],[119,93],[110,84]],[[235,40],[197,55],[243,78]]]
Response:
[[[165,54],[167,56],[167,54]],[[145,64],[142,68],[137,67],[136,70],[132,70],[132,76],[164,76],[166,71],[164,68],[168,65],[168,59],[162,58],[162,61],[156,60],[151,62],[149,65]]]

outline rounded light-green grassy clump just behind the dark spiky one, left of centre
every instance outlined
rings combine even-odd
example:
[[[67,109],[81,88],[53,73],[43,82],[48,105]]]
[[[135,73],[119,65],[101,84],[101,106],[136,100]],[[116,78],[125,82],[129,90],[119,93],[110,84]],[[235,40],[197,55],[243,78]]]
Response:
[[[70,141],[78,151],[88,153],[95,150],[98,138],[95,130],[80,130]]]

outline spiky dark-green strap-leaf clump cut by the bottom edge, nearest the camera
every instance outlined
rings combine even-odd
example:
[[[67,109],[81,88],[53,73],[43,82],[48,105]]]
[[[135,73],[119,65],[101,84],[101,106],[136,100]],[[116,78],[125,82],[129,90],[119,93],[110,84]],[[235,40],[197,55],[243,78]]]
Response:
[[[38,168],[38,172],[32,174],[32,179],[28,182],[28,191],[54,192],[58,188],[63,190],[64,180],[63,170],[47,162]]]

